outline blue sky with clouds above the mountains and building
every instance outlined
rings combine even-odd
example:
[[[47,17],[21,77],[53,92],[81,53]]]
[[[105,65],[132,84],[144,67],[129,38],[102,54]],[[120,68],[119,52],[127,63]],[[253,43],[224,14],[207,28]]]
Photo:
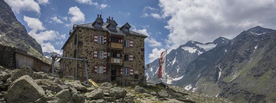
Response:
[[[276,29],[275,0],[5,0],[43,52],[62,54],[73,24],[114,17],[145,39],[145,64],[187,41],[233,39],[243,30]],[[102,12],[101,12],[102,9]]]

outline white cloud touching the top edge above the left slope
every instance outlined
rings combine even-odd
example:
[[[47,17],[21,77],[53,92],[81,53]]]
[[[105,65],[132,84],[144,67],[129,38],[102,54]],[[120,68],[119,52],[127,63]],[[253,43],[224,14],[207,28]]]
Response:
[[[12,11],[15,13],[20,13],[20,11],[35,11],[40,13],[40,7],[34,0],[5,0],[7,4],[11,7]]]

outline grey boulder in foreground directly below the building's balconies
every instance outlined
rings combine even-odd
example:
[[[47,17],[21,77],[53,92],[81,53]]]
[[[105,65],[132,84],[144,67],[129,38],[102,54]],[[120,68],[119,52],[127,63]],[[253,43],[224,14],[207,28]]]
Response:
[[[127,95],[127,90],[123,88],[111,88],[109,92],[109,96],[116,97],[116,99],[124,98]]]

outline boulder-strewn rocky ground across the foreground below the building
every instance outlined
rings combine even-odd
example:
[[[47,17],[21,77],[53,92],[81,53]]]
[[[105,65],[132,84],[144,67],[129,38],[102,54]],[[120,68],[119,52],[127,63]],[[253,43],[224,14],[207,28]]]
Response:
[[[9,70],[0,66],[1,103],[232,103],[230,100],[192,93],[177,86],[114,87],[108,82],[99,87],[87,85],[74,77],[57,78],[22,66]],[[155,88],[153,88],[155,87]]]

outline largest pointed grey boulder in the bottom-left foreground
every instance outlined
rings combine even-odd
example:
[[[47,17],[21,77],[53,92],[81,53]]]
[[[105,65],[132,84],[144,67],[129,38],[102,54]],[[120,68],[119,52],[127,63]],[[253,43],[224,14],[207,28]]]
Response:
[[[5,97],[7,102],[34,102],[41,98],[45,94],[45,91],[39,87],[34,80],[28,76],[22,76],[15,80],[7,92]]]

